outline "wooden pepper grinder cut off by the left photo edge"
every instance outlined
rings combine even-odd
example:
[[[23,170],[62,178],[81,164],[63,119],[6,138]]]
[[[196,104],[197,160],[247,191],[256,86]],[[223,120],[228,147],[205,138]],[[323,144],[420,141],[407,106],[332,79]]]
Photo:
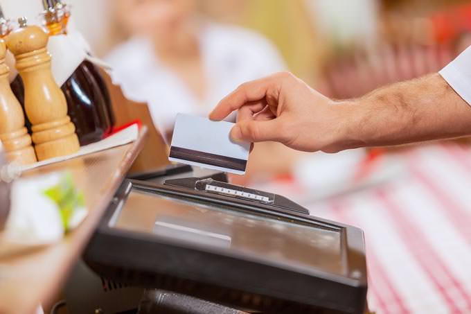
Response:
[[[33,164],[36,162],[35,150],[24,126],[23,109],[10,88],[10,69],[5,58],[6,44],[0,39],[0,141],[10,162]]]

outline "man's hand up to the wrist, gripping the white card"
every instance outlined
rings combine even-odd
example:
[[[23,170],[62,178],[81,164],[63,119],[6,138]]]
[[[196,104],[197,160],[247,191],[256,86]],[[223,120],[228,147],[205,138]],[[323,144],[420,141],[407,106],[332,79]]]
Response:
[[[235,141],[278,141],[304,151],[335,152],[342,133],[341,103],[311,89],[291,73],[246,82],[226,96],[210,114],[222,120],[238,110],[231,131]]]

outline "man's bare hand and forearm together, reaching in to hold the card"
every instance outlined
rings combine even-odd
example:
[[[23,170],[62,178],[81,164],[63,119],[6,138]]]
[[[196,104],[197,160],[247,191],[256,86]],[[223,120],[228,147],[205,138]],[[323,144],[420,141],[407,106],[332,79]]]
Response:
[[[239,110],[236,141],[278,141],[296,150],[337,152],[471,134],[471,106],[438,74],[332,101],[290,73],[241,85],[211,112]]]

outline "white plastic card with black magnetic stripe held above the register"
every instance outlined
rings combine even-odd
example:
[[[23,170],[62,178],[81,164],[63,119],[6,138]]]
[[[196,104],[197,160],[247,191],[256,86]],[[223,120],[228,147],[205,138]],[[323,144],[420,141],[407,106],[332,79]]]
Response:
[[[231,141],[229,133],[233,125],[202,116],[177,114],[168,160],[236,175],[245,174],[250,143]]]

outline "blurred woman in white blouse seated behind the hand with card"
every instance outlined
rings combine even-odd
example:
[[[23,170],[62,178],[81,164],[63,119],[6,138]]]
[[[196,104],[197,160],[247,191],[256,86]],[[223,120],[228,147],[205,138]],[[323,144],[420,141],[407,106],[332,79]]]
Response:
[[[107,56],[113,79],[128,98],[148,103],[167,137],[177,113],[207,114],[240,83],[285,69],[264,37],[199,15],[204,1],[114,2],[128,39]]]

